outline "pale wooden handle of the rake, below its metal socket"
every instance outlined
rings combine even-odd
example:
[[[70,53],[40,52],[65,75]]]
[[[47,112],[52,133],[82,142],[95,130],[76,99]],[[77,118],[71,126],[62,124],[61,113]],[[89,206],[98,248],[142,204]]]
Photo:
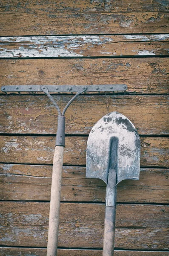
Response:
[[[54,149],[47,256],[57,255],[63,150],[60,145]]]

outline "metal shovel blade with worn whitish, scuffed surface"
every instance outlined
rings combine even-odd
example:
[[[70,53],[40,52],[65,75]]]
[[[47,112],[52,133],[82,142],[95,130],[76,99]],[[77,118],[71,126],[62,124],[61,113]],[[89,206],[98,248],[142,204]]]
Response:
[[[114,166],[110,166],[112,163]],[[86,177],[107,184],[110,168],[116,171],[116,184],[139,180],[140,137],[132,122],[118,112],[103,116],[93,126],[87,142]]]

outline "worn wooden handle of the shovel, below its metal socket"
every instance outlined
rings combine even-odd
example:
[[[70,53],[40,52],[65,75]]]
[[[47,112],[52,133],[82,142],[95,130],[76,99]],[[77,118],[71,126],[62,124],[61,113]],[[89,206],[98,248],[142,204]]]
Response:
[[[104,219],[103,256],[113,256],[115,244],[116,208],[107,206]]]

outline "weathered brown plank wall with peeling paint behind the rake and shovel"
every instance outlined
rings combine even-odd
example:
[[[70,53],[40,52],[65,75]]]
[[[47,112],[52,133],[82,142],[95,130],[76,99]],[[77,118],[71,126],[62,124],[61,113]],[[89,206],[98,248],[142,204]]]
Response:
[[[58,256],[101,256],[105,184],[85,178],[92,126],[118,111],[141,139],[140,180],[117,189],[115,256],[169,255],[169,2],[2,0],[0,84],[128,85],[66,112]],[[54,95],[63,109],[70,95]],[[0,95],[0,255],[45,256],[57,113]],[[168,143],[168,144],[167,144]]]

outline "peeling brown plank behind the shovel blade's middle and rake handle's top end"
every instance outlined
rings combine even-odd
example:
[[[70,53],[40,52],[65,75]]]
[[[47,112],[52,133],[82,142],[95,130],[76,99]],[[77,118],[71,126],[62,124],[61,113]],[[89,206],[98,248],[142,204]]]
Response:
[[[66,137],[63,164],[86,164],[87,137]],[[141,137],[141,166],[168,167],[167,137]],[[1,163],[52,164],[54,136],[2,136]]]

